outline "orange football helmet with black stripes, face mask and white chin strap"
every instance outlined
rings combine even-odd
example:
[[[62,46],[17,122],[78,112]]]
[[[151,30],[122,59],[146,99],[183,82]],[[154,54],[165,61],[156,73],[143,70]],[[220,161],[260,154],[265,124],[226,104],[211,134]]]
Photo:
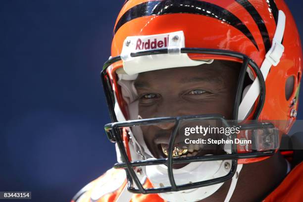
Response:
[[[138,75],[217,60],[241,66],[232,121],[213,113],[142,117]],[[232,179],[229,201],[242,165],[273,155],[296,120],[301,73],[301,41],[283,0],[126,0],[101,71],[112,120],[105,131],[116,143],[114,167],[125,169],[130,192],[157,193],[170,202],[202,200]],[[252,140],[253,146],[226,144],[221,154],[181,155],[189,150],[176,147],[184,125],[211,121],[240,124],[241,132],[229,138]],[[159,148],[166,156],[155,156],[144,127],[161,124],[172,127]],[[147,178],[152,187],[145,186]]]

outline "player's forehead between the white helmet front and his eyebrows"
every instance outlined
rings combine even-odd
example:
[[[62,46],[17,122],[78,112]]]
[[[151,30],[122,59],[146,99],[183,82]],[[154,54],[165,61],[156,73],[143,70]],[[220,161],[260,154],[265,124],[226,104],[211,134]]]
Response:
[[[161,83],[222,83],[223,80],[236,75],[239,63],[213,61],[191,67],[176,67],[140,73],[135,81],[136,87],[159,85]]]

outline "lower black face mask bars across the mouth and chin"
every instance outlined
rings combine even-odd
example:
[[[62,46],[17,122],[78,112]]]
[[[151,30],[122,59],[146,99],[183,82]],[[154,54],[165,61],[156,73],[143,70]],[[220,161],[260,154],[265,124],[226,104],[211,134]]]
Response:
[[[177,117],[161,117],[161,118],[151,118],[151,119],[141,119],[135,121],[125,121],[125,122],[116,122],[105,125],[105,131],[108,135],[108,138],[112,138],[115,136],[115,140],[119,147],[119,151],[121,152],[122,163],[116,163],[114,168],[123,168],[127,172],[129,191],[133,193],[142,193],[142,194],[152,194],[152,193],[164,193],[164,192],[172,192],[172,191],[182,191],[188,189],[194,189],[204,186],[210,186],[213,184],[222,183],[226,180],[229,180],[233,177],[237,170],[237,159],[241,158],[254,158],[261,156],[269,156],[274,153],[274,150],[267,150],[262,152],[250,152],[250,153],[237,153],[237,145],[231,144],[231,153],[230,154],[222,154],[222,155],[206,155],[206,156],[191,156],[191,157],[173,157],[173,146],[175,142],[175,138],[177,135],[177,131],[179,130],[180,123],[182,121],[202,121],[202,120],[218,120],[223,123],[224,127],[231,127],[234,125],[230,125],[224,117],[221,115],[194,115],[194,116],[177,116]],[[149,160],[137,160],[130,161],[127,155],[127,152],[124,147],[124,143],[122,140],[122,132],[121,128],[123,127],[132,127],[132,126],[144,126],[144,125],[155,125],[155,124],[163,124],[163,123],[171,123],[174,122],[174,128],[172,134],[169,139],[169,148],[168,148],[168,156],[167,158],[160,159],[149,159]],[[241,130],[253,130],[253,129],[268,129],[274,128],[274,126],[270,123],[253,123],[253,124],[241,124],[237,125],[241,126]],[[236,138],[236,134],[231,135],[231,139],[234,140]],[[218,177],[211,180],[205,180],[201,182],[195,182],[191,184],[185,185],[176,185],[174,175],[173,175],[173,163],[191,163],[191,162],[200,162],[200,161],[215,161],[215,160],[232,160],[232,165],[229,173],[225,176]],[[147,188],[144,189],[139,178],[136,175],[136,171],[134,168],[138,168],[140,166],[149,166],[149,165],[159,165],[164,164],[168,169],[168,178],[171,186],[162,187],[162,188]],[[138,189],[134,188],[133,181],[135,182]]]

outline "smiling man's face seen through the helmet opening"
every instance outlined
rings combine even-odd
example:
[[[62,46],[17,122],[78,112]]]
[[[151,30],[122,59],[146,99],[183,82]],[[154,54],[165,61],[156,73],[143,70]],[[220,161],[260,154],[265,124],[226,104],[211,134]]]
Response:
[[[232,119],[240,66],[240,63],[215,60],[211,64],[194,67],[140,73],[135,81],[139,117],[221,114],[226,119]],[[183,123],[181,128],[196,125],[197,122]],[[174,123],[163,123],[142,127],[147,147],[155,157],[166,157],[165,150],[173,126]],[[185,138],[184,133],[179,131],[175,145],[182,147]],[[187,148],[190,150],[187,156],[197,155],[197,146],[187,145]]]

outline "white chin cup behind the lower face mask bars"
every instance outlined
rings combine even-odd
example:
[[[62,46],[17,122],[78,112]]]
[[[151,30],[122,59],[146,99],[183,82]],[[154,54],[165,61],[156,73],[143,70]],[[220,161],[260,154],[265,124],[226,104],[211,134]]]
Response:
[[[232,162],[231,160],[193,162],[183,168],[173,169],[175,182],[177,185],[182,185],[223,177],[230,171],[230,168],[224,167],[225,163],[229,163],[231,165]],[[170,186],[167,166],[146,166],[146,173],[155,187]],[[161,198],[169,202],[196,202],[209,197],[222,185],[223,183],[219,183],[179,192],[161,193],[159,195]]]

